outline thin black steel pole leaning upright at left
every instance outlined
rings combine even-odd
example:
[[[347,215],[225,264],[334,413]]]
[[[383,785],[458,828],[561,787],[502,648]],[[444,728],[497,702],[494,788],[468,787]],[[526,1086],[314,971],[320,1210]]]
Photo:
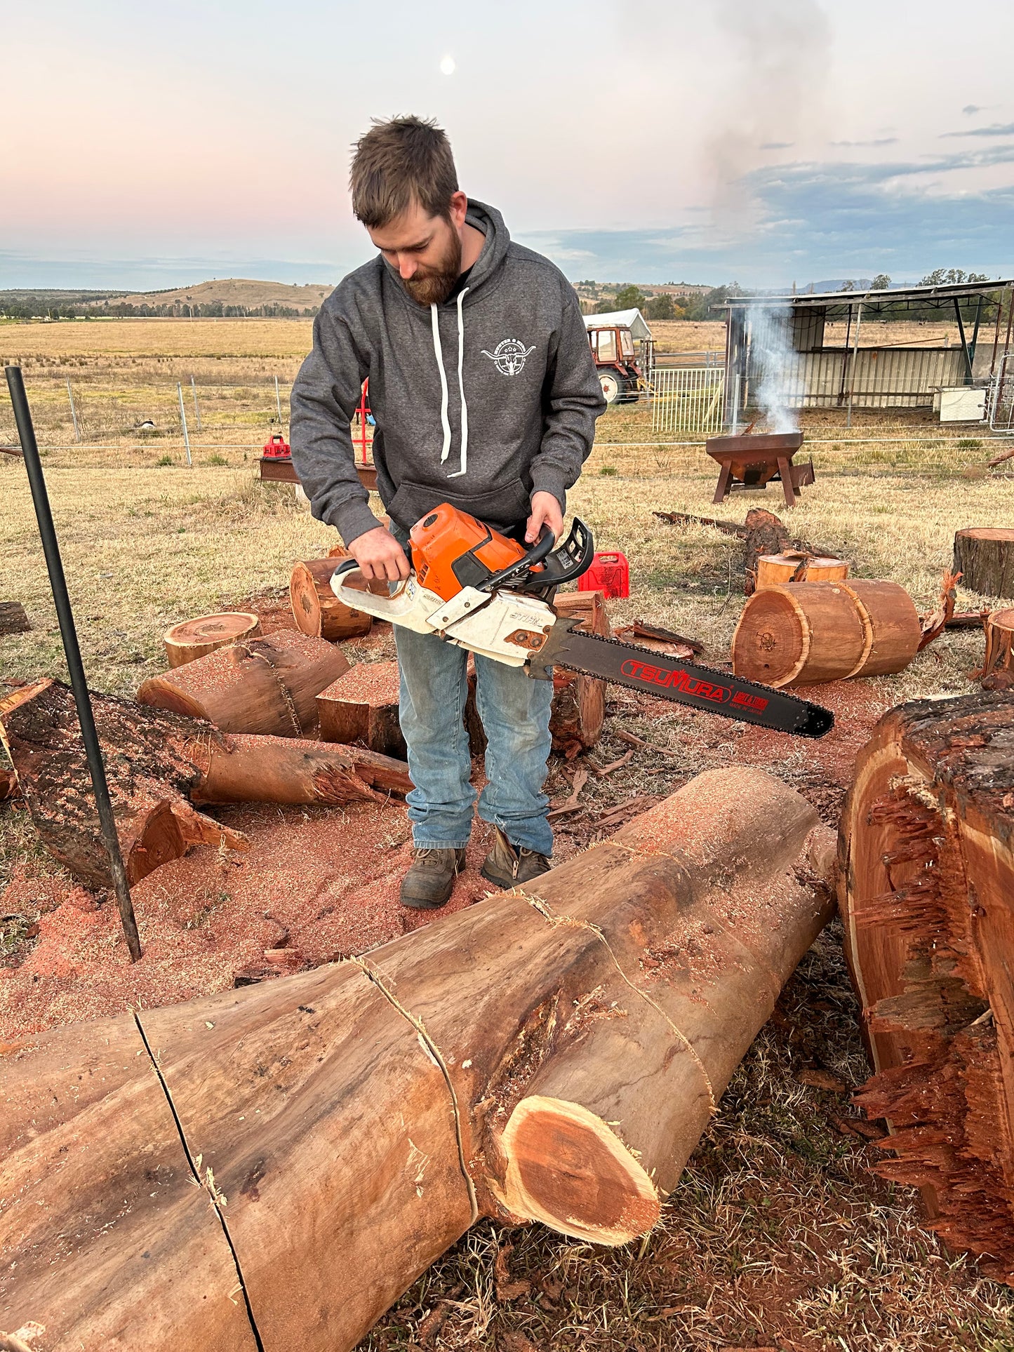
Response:
[[[112,802],[110,800],[110,786],[105,783],[105,764],[103,761],[101,746],[99,745],[99,734],[95,730],[92,700],[88,695],[88,681],[81,662],[81,649],[77,642],[77,629],[74,627],[74,617],[70,610],[70,598],[66,589],[64,564],[59,558],[59,544],[57,542],[57,531],[53,526],[53,512],[49,506],[49,493],[46,492],[46,480],[42,473],[42,461],[39,460],[39,448],[35,441],[35,429],[31,422],[31,410],[28,408],[28,399],[24,393],[22,368],[5,366],[4,372],[7,375],[7,387],[11,391],[11,403],[14,404],[14,418],[18,423],[18,435],[22,442],[24,466],[28,470],[28,484],[31,485],[31,498],[35,504],[35,519],[39,523],[42,549],[46,554],[49,581],[53,588],[57,619],[59,621],[59,634],[64,639],[64,652],[66,653],[66,664],[70,671],[70,688],[74,692],[77,718],[81,725],[81,740],[84,742],[85,756],[88,757],[88,769],[92,775],[95,806],[99,808],[99,825],[101,827],[105,850],[110,856],[112,890],[116,894],[116,904],[119,906],[120,921],[123,922],[123,936],[127,940],[127,948],[130,949],[130,960],[131,963],[137,963],[141,957],[138,922],[134,918],[134,903],[130,898],[130,884],[127,883],[127,872],[123,868],[123,856],[120,854],[120,842],[116,836]]]

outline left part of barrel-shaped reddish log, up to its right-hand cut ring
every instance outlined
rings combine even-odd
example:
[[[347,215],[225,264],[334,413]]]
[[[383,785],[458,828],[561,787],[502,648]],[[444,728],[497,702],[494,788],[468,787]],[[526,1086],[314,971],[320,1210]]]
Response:
[[[765,587],[744,606],[733,671],[780,690],[842,680],[865,661],[869,634],[852,592],[837,583]]]

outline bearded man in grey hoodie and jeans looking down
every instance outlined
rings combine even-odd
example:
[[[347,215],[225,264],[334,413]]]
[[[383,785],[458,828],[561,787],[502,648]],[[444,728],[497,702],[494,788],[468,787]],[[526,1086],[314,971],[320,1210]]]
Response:
[[[529,544],[562,531],[602,396],[573,288],[511,242],[492,207],[458,189],[445,132],[419,118],[375,123],[352,164],[352,204],[380,256],[350,273],[314,324],[292,391],[292,460],[314,515],[335,526],[365,577],[407,577],[408,530],[442,502]],[[350,420],[369,377],[373,461],[391,531],[356,473]],[[415,788],[414,861],[402,902],[442,906],[464,868],[475,790],[462,713],[468,654],[395,630],[400,722]],[[480,817],[496,829],[483,875],[500,887],[549,868],[542,792],[550,681],[476,658],[488,738]]]

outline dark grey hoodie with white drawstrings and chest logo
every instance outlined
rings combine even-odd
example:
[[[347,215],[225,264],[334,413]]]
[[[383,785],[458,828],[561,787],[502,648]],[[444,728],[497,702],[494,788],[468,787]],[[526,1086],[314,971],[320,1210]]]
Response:
[[[408,529],[449,502],[500,529],[533,492],[566,506],[604,411],[573,288],[511,242],[499,211],[469,201],[485,235],[465,285],[420,306],[380,254],[320,307],[292,389],[292,461],[314,515],[346,545],[377,525],[353,458],[350,419],[369,376],[377,488]]]

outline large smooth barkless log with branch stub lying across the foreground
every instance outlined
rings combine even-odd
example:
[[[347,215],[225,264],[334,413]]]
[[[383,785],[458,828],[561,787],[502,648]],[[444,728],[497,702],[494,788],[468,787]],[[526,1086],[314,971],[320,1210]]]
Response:
[[[827,918],[814,823],[710,772],[538,891],[5,1049],[0,1326],[234,1352],[245,1302],[268,1352],[343,1352],[480,1215],[646,1233]]]

